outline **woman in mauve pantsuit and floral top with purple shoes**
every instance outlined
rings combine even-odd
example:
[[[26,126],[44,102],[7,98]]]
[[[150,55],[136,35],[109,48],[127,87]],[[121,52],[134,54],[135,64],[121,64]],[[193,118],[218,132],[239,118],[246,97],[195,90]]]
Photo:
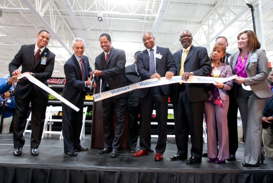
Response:
[[[213,46],[210,59],[212,66],[211,77],[228,78],[232,76],[231,67],[225,64],[225,43],[219,42]],[[225,163],[229,158],[229,131],[227,127],[227,111],[229,95],[227,90],[232,88],[232,81],[216,82],[208,86],[209,99],[204,103],[204,114],[207,124],[207,162]],[[217,150],[216,125],[219,140]]]

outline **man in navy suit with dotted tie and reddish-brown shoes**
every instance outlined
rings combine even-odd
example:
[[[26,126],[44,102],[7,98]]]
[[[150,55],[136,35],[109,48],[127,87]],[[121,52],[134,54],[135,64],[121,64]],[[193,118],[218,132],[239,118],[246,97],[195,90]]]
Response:
[[[144,33],[142,40],[146,49],[136,55],[136,64],[141,81],[152,78],[160,80],[164,76],[166,79],[172,78],[176,74],[176,67],[170,50],[156,46],[155,37],[150,32]],[[133,154],[134,157],[149,154],[151,114],[155,106],[158,122],[155,160],[163,160],[167,144],[168,95],[170,94],[170,85],[141,88],[138,91],[141,114],[140,150]]]

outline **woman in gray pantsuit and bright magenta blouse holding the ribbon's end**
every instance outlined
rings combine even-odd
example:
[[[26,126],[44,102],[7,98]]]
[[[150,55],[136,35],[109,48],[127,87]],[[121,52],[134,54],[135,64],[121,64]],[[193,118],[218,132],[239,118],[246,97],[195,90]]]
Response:
[[[268,59],[256,34],[243,31],[237,36],[239,52],[232,54],[230,66],[236,74],[236,96],[245,138],[243,166],[260,166],[262,147],[262,114],[266,98],[272,95],[266,78]],[[248,88],[243,88],[244,84]],[[261,158],[262,156],[262,158]]]

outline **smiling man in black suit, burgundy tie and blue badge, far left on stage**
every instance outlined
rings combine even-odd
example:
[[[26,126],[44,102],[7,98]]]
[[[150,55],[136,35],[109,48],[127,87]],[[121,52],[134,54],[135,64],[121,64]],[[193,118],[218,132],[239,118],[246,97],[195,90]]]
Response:
[[[37,34],[37,43],[33,45],[21,46],[19,52],[9,64],[10,75],[30,74],[43,84],[48,84],[51,77],[55,54],[49,51],[48,45],[50,34],[46,30],[41,30]],[[22,66],[22,70],[18,69]],[[41,142],[46,106],[48,104],[48,93],[32,84],[28,79],[20,79],[15,88],[15,115],[13,121],[13,143],[14,156],[22,154],[22,147],[25,144],[23,132],[26,126],[29,102],[32,101],[31,116],[31,139],[30,154],[38,155],[38,146]]]

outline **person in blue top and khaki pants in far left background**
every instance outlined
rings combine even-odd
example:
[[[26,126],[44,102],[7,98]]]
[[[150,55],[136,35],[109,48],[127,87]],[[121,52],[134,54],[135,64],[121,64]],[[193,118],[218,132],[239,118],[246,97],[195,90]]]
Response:
[[[2,114],[3,102],[1,102],[0,107],[0,122],[1,117],[4,115],[3,125],[2,125],[2,134],[10,132],[10,124],[12,122],[13,111],[15,109],[15,100],[11,98],[11,90],[8,90],[4,93],[3,99],[5,99],[5,112]]]

